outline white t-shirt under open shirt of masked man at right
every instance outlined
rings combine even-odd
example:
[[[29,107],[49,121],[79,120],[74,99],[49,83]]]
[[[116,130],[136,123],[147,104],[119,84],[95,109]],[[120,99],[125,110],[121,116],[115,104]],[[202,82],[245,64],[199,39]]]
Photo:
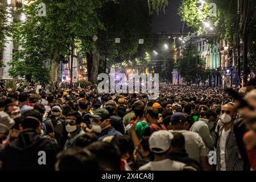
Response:
[[[229,132],[222,130],[221,137],[220,137],[220,158],[221,158],[221,171],[226,171],[226,162],[225,162],[225,148],[226,148],[226,138],[228,138]]]

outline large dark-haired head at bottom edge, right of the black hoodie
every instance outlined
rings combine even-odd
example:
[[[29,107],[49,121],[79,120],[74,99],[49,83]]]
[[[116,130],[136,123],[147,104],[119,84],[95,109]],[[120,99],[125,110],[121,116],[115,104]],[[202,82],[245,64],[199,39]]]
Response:
[[[99,164],[92,152],[82,148],[68,148],[57,155],[56,171],[98,171]]]

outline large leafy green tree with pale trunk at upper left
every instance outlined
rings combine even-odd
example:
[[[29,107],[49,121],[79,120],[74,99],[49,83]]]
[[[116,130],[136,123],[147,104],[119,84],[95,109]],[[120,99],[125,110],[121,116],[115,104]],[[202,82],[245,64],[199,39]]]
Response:
[[[107,1],[107,0],[106,0]],[[51,81],[56,81],[57,65],[60,56],[73,56],[72,49],[93,50],[92,37],[99,28],[103,28],[96,10],[105,1],[100,0],[37,0],[29,1],[26,10],[27,20],[21,23],[20,38],[24,40],[24,52],[30,54],[29,48],[35,46],[44,60],[51,60]],[[45,3],[46,16],[39,16],[39,3]],[[38,30],[34,36],[27,36],[30,28]],[[24,31],[23,31],[24,30]],[[42,36],[43,38],[37,38]],[[36,39],[35,39],[36,38]],[[42,42],[43,39],[43,42]],[[37,42],[38,41],[38,42]],[[33,43],[32,43],[33,42]],[[47,52],[47,55],[44,53]],[[26,56],[28,57],[28,56]],[[30,55],[29,57],[34,57]],[[13,65],[18,68],[22,57]],[[38,62],[36,62],[38,63]],[[71,68],[72,69],[72,68]]]

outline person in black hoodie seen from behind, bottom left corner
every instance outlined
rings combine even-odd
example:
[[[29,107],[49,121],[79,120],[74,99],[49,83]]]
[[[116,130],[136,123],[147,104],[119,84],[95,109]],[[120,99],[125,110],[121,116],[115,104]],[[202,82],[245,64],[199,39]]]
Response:
[[[40,137],[41,127],[42,114],[38,110],[24,113],[20,123],[22,132],[15,140],[6,143],[0,152],[3,170],[54,170],[55,156],[59,148],[54,139]],[[39,159],[41,156],[42,160]],[[45,159],[43,156],[46,156]]]

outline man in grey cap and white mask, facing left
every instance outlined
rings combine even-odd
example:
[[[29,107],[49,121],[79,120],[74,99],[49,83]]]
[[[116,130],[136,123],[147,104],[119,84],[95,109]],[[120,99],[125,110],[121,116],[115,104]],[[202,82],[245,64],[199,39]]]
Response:
[[[89,114],[92,131],[97,135],[98,140],[103,140],[106,137],[122,135],[115,130],[110,122],[110,114],[106,109],[97,109],[94,114]]]

